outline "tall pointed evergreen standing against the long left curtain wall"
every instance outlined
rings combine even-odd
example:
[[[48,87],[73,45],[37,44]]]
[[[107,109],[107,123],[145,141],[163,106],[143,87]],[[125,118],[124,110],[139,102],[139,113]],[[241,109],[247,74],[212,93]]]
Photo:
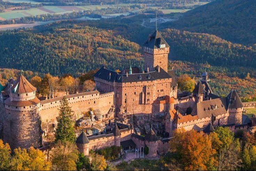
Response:
[[[74,131],[74,122],[72,121],[73,114],[71,113],[71,107],[66,97],[61,100],[60,112],[57,117],[57,128],[55,131],[55,142],[75,142],[76,135]]]

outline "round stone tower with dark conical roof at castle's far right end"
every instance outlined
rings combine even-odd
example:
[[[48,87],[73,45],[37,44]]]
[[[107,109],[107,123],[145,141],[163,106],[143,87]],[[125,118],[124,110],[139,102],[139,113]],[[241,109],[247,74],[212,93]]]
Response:
[[[231,90],[227,96],[228,118],[227,124],[242,124],[243,103],[236,90]]]

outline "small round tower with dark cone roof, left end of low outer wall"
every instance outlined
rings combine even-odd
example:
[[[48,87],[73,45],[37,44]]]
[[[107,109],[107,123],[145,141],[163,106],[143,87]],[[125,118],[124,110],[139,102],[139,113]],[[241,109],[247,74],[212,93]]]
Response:
[[[85,156],[89,155],[89,140],[84,131],[77,138],[76,145],[80,153],[83,153]]]

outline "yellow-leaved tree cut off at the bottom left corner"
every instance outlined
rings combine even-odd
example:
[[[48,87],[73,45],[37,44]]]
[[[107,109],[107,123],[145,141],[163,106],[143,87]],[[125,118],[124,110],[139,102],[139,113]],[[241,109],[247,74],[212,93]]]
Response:
[[[0,170],[8,170],[11,159],[11,149],[8,143],[4,144],[0,139]]]

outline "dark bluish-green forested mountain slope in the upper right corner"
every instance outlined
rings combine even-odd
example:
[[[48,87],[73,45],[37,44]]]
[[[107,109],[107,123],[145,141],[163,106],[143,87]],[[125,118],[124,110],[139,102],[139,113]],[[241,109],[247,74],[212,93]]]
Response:
[[[165,24],[191,32],[210,33],[244,45],[256,44],[256,1],[216,0],[187,11],[178,21]]]

